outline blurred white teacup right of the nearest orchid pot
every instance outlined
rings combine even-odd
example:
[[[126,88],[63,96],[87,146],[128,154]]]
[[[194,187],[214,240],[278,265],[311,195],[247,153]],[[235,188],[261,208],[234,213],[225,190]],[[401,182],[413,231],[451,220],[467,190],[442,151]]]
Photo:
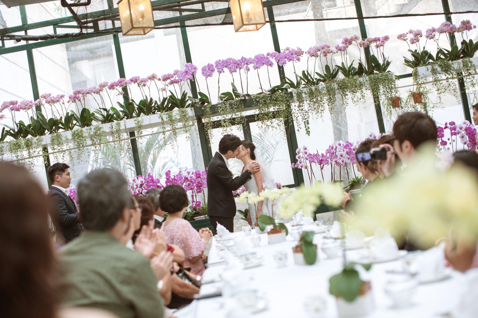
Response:
[[[412,303],[413,293],[418,283],[410,276],[394,277],[385,284],[385,294],[393,301],[396,308],[405,308]]]

